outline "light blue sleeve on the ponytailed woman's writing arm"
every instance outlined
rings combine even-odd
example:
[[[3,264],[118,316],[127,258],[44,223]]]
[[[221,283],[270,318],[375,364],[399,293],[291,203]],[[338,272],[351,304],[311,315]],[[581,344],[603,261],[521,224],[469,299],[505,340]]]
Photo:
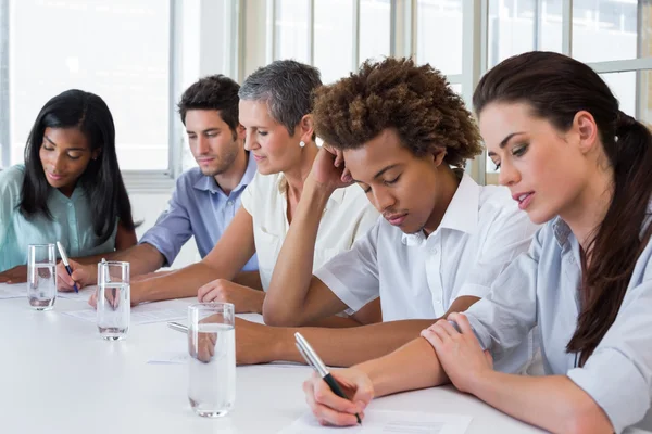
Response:
[[[507,363],[506,359],[537,323],[537,271],[542,240],[550,230],[549,226],[540,229],[529,251],[516,257],[489,294],[465,312],[480,346],[490,350],[499,366],[521,365]]]

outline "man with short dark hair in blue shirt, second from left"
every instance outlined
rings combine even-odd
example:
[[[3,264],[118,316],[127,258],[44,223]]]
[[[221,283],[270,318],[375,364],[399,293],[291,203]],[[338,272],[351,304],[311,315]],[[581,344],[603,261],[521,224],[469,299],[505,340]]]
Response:
[[[244,128],[238,122],[239,88],[230,78],[213,75],[184,92],[179,115],[199,167],[177,179],[167,210],[140,243],[109,254],[106,259],[128,261],[131,276],[141,276],[172,265],[190,237],[195,237],[202,257],[213,248],[240,207],[240,195],[256,171],[254,159],[244,151]],[[96,283],[96,265],[73,261],[73,268],[72,279],[82,286]],[[242,271],[236,282],[261,286],[255,256]],[[61,289],[72,289],[72,279],[62,266],[58,277]]]

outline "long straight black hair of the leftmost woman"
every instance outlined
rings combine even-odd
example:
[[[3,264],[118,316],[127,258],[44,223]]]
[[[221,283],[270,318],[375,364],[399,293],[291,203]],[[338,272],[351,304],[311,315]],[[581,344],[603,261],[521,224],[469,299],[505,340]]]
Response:
[[[26,218],[43,215],[54,219],[48,208],[52,187],[43,171],[39,151],[46,128],[78,128],[86,136],[90,151],[101,150],[97,159],[90,159],[77,180],[88,195],[93,230],[105,242],[115,221],[134,229],[131,205],[123,182],[115,154],[115,127],[104,101],[90,92],[71,89],[58,94],[39,112],[25,146],[25,179],[21,192],[20,210]]]

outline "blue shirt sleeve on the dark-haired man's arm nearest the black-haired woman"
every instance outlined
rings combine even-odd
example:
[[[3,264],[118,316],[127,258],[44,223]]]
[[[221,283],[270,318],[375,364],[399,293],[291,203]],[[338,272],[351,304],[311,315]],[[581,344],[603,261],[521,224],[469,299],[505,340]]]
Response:
[[[161,252],[165,258],[164,267],[170,267],[174,263],[184,244],[192,237],[192,224],[185,205],[189,199],[188,187],[185,178],[179,178],[167,209],[159,216],[156,224],[140,239],[140,244],[151,244]]]

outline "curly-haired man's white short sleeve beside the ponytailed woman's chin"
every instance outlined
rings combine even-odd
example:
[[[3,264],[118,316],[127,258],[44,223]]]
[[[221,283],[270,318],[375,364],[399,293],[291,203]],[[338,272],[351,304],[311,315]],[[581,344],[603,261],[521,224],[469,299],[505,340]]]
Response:
[[[486,296],[500,273],[518,255],[528,251],[539,227],[531,222],[526,213],[510,205],[497,214],[489,228],[478,261],[454,295],[455,298],[464,295]]]

